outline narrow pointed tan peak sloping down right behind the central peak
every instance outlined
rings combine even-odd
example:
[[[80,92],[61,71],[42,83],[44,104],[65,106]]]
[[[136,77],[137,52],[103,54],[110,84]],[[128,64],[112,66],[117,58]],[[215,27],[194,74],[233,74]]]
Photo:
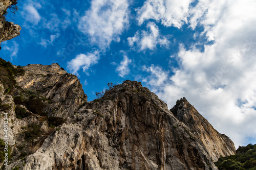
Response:
[[[220,155],[236,153],[236,148],[229,137],[216,131],[186,98],[177,100],[170,111],[204,143],[214,161],[217,161]]]

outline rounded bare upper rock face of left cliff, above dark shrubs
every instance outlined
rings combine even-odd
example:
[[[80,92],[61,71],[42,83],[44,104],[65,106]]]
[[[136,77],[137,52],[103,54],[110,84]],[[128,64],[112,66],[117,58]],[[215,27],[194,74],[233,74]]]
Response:
[[[46,98],[48,102],[45,103],[43,112],[49,117],[67,118],[72,116],[83,102],[87,102],[87,95],[84,94],[78,78],[68,74],[58,64],[31,64],[23,68],[25,75],[16,78],[17,85],[22,90],[17,89],[13,95],[20,95],[21,91],[25,90]]]

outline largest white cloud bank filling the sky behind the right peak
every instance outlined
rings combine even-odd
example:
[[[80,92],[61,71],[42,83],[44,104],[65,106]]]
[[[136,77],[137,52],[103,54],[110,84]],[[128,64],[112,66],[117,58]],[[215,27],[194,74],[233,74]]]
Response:
[[[205,1],[204,1],[205,2]],[[208,2],[208,1],[206,1]],[[201,11],[199,11],[201,10]],[[255,1],[199,1],[190,26],[200,24],[208,40],[204,52],[197,48],[177,54],[180,67],[173,75],[148,67],[145,80],[169,107],[185,96],[220,132],[236,144],[256,138],[256,11]],[[159,75],[168,75],[159,76]],[[161,82],[161,83],[158,83]]]

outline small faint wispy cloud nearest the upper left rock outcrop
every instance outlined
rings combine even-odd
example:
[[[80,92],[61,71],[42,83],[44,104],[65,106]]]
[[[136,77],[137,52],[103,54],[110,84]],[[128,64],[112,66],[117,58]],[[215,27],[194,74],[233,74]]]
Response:
[[[41,19],[37,9],[40,9],[41,5],[37,3],[32,3],[24,6],[24,10],[22,11],[22,16],[25,17],[25,20],[33,23],[33,25],[37,25]],[[25,21],[25,26],[26,26]]]

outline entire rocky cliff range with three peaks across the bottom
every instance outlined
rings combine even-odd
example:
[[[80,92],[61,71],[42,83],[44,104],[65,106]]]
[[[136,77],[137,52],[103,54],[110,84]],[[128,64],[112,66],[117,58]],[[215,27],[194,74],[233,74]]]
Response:
[[[12,156],[6,169],[217,169],[220,155],[236,152],[185,98],[168,110],[127,80],[87,102],[77,77],[58,64],[14,66],[13,84],[0,68]]]

